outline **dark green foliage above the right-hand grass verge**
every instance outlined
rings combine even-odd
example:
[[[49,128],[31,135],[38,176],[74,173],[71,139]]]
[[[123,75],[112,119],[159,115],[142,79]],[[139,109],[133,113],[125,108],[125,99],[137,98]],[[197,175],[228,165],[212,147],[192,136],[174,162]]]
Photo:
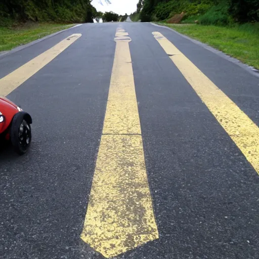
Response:
[[[201,24],[259,21],[259,0],[139,0],[137,4],[143,22],[166,20],[182,12],[185,20],[198,17]]]

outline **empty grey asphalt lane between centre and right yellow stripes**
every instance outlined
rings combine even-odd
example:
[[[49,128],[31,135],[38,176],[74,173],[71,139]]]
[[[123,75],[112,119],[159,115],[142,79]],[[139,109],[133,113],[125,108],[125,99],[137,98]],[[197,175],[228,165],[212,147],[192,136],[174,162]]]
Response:
[[[159,231],[159,240],[125,258],[147,254],[152,258],[258,257],[256,171],[158,42],[152,40],[157,27],[133,23],[125,29],[132,38],[143,145]],[[175,39],[172,32],[167,34]],[[188,44],[190,52],[198,49],[192,45]],[[197,50],[196,56],[204,59],[203,53]],[[207,59],[210,74],[214,70],[211,63]],[[218,68],[225,74],[227,69]],[[237,73],[233,80],[239,80]],[[239,73],[241,85],[247,82],[250,87],[249,82],[258,82],[246,71]],[[236,83],[236,88],[241,86]],[[252,100],[249,105],[254,105],[255,114],[258,106]]]

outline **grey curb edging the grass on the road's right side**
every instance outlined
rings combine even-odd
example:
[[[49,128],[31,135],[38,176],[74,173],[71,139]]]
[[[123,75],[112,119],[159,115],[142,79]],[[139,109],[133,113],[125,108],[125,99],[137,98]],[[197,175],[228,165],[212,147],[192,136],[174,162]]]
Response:
[[[182,37],[191,40],[194,44],[199,45],[199,46],[203,47],[204,49],[206,49],[206,50],[208,50],[208,51],[210,51],[210,52],[212,52],[212,53],[214,53],[214,54],[217,54],[218,56],[220,56],[220,57],[222,57],[222,58],[224,58],[224,59],[226,59],[226,60],[228,60],[228,61],[230,61],[230,62],[232,62],[232,63],[234,63],[234,64],[236,64],[236,65],[238,65],[239,67],[243,68],[244,70],[246,70],[246,71],[249,72],[250,74],[252,74],[252,75],[254,75],[254,76],[256,76],[256,77],[259,77],[259,70],[255,69],[255,68],[252,67],[252,66],[248,66],[248,65],[242,63],[240,60],[238,60],[238,59],[236,59],[236,58],[233,58],[233,57],[231,57],[231,56],[225,54],[225,53],[222,52],[222,51],[219,51],[219,50],[217,50],[217,49],[214,49],[214,48],[210,47],[209,45],[207,45],[207,44],[205,44],[205,43],[202,43],[202,42],[200,42],[200,41],[198,41],[198,40],[196,40],[196,39],[190,38],[190,37],[188,37],[188,36],[186,36],[186,35],[184,35],[184,34],[178,32],[178,31],[176,31],[176,30],[174,30],[174,29],[172,29],[172,28],[169,28],[169,27],[167,27],[167,26],[158,25],[158,24],[155,24],[155,23],[152,23],[152,22],[150,22],[150,24],[152,24],[152,25],[154,25],[154,26],[158,26],[158,27],[162,27],[162,28],[169,29],[169,30],[171,30],[171,31],[173,31],[173,32],[175,32],[175,33],[177,33],[178,35],[181,35]]]

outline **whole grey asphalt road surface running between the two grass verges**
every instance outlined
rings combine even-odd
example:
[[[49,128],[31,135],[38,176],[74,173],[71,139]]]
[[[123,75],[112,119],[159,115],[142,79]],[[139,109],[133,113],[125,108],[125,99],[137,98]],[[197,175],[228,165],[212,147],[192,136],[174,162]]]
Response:
[[[121,29],[115,42],[118,26],[128,36]],[[240,148],[238,138],[234,139],[224,122],[213,115],[213,108],[208,108],[208,99],[204,96],[209,90],[203,88],[203,92],[199,92],[200,89],[194,89],[195,80],[200,80],[200,72],[192,75],[188,69],[183,72],[180,63],[174,60],[179,54],[166,53],[160,46],[161,40],[152,35],[155,31],[172,42],[217,85],[218,91],[225,94],[224,98],[240,108],[240,114],[247,115],[245,121],[239,122],[247,128],[247,132],[241,133],[248,134],[245,139],[250,138],[250,127],[255,134],[255,140],[249,144],[253,145],[253,158],[249,160],[250,153]],[[97,231],[99,234],[90,244],[80,236],[91,222],[97,221],[97,210],[102,210],[104,204],[104,200],[100,200],[104,199],[102,195],[91,189],[102,186],[105,195],[114,194],[115,187],[109,184],[112,177],[105,169],[117,156],[131,159],[126,150],[123,151],[125,154],[121,151],[125,143],[121,147],[103,144],[107,135],[140,139],[135,148],[139,151],[134,149],[132,152],[135,153],[131,153],[134,162],[116,166],[132,168],[125,174],[134,174],[135,165],[144,163],[141,160],[144,150],[146,166],[141,167],[141,178],[144,179],[141,188],[148,190],[143,194],[139,186],[134,189],[138,185],[138,181],[134,181],[138,170],[125,182],[117,181],[116,188],[123,185],[123,192],[120,190],[116,201],[122,202],[122,206],[126,203],[125,214],[127,209],[134,208],[131,213],[136,212],[138,220],[136,228],[117,223],[120,232],[134,229],[136,233],[126,235],[128,240],[123,241],[126,249],[123,248],[122,253],[111,252],[115,258],[259,258],[259,171],[256,171],[259,161],[256,153],[259,77],[167,28],[149,23],[102,23],[83,24],[0,57],[0,78],[75,33],[81,36],[7,96],[31,114],[33,140],[24,156],[16,155],[11,147],[2,148],[0,152],[0,258],[105,258],[104,253],[92,247],[101,246],[104,241],[100,240],[105,237],[108,240],[111,236]],[[118,47],[115,54],[116,44],[122,47]],[[166,44],[172,49],[168,42]],[[131,61],[126,54],[123,56],[127,46]],[[121,61],[121,56],[128,61]],[[120,65],[113,67],[113,63]],[[188,79],[189,74],[193,76],[191,79]],[[116,87],[119,89],[121,85],[112,86],[111,76],[115,82],[121,82],[125,90],[116,92]],[[133,92],[127,92],[130,89],[127,88],[128,81],[131,81],[131,91],[135,84],[136,97],[131,94]],[[133,117],[137,125],[140,121],[141,133],[138,128],[136,132],[131,132],[130,128],[125,133],[117,133],[119,126],[109,122],[107,116],[111,108],[107,104],[114,98],[116,106],[116,94],[120,98],[127,96],[128,99],[120,103],[127,108],[123,116],[129,124]],[[221,100],[215,107],[219,103]],[[117,116],[116,109],[110,116]],[[228,112],[230,107],[224,109]],[[105,127],[109,127],[106,119],[115,133],[105,132]],[[238,121],[239,114],[235,119]],[[246,126],[248,119],[253,123]],[[245,141],[243,145],[249,146]],[[110,155],[116,149],[120,154]],[[140,158],[136,158],[138,155]],[[108,178],[102,178],[105,174]],[[122,179],[124,171],[120,174]],[[145,181],[146,177],[148,181]],[[127,193],[124,189],[128,184],[131,184],[129,193],[135,197],[131,203],[127,203],[130,201],[123,199],[121,194]],[[146,203],[141,195],[145,196]],[[92,210],[85,219],[90,199],[89,211]],[[143,205],[141,208],[148,204],[145,211],[139,206],[135,209],[139,204],[136,200]],[[110,201],[106,202],[109,204]],[[123,221],[121,208],[114,206],[113,220]],[[116,214],[116,211],[119,212]],[[109,213],[108,209],[102,210],[103,221],[106,213]],[[132,219],[127,219],[128,224],[135,226]],[[147,224],[153,233],[150,240],[143,239],[142,243],[139,242],[141,238],[138,239],[139,231],[144,229],[141,224]],[[103,231],[106,230],[107,226]],[[91,231],[88,232],[90,237]],[[115,246],[111,245],[110,251],[116,250]],[[109,249],[105,249],[109,254]]]

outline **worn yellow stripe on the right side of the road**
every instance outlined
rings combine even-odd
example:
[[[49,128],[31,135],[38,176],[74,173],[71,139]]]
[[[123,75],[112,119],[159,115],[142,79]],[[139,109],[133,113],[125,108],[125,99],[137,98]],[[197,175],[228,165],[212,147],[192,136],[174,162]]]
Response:
[[[257,125],[167,38],[160,32],[153,32],[153,35],[259,174]]]

